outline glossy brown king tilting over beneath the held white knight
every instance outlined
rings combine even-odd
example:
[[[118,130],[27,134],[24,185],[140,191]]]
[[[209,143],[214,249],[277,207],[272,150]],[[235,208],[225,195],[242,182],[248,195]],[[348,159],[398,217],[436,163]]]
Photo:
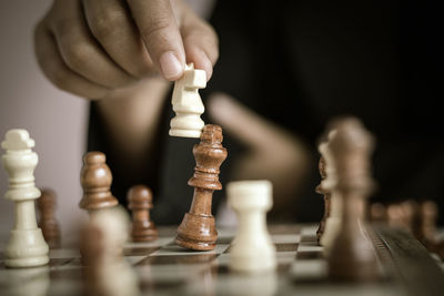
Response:
[[[201,142],[193,147],[195,159],[194,176],[188,182],[194,187],[190,212],[185,214],[178,228],[175,243],[182,247],[208,251],[215,247],[218,232],[211,215],[213,192],[221,190],[219,167],[226,159],[222,146],[222,129],[206,124],[201,134]]]

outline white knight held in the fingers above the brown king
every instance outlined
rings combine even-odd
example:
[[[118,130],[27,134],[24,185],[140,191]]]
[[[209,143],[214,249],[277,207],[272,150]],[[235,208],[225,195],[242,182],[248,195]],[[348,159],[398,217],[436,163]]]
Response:
[[[183,76],[174,82],[172,104],[175,118],[170,122],[170,135],[200,137],[204,125],[201,114],[205,111],[198,90],[206,86],[206,74],[194,69],[194,64],[185,65]]]

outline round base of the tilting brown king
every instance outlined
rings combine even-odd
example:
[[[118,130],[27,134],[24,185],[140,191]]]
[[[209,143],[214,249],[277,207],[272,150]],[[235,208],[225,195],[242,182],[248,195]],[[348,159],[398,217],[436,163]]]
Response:
[[[186,213],[178,228],[175,244],[195,251],[211,251],[214,249],[216,239],[213,216]]]

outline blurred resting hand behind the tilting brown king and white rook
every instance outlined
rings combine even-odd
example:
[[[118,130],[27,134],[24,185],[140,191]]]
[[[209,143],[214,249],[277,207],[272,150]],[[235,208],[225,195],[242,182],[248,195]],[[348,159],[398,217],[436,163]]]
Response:
[[[224,134],[246,146],[233,164],[232,180],[270,180],[273,212],[289,213],[314,163],[314,155],[296,135],[262,118],[226,94],[213,94],[205,106]],[[293,201],[291,201],[293,200]]]

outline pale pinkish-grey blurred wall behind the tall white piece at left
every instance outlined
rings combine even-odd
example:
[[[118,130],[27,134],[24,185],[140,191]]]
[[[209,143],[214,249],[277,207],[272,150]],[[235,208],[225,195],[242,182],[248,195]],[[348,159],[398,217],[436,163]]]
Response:
[[[33,28],[51,0],[0,1],[0,136],[26,129],[39,154],[38,187],[58,194],[57,218],[63,236],[83,215],[78,203],[81,157],[85,147],[87,102],[57,90],[40,72],[33,53]],[[3,151],[2,153],[3,154]],[[3,198],[8,176],[0,170],[0,237],[13,225],[13,203]]]

